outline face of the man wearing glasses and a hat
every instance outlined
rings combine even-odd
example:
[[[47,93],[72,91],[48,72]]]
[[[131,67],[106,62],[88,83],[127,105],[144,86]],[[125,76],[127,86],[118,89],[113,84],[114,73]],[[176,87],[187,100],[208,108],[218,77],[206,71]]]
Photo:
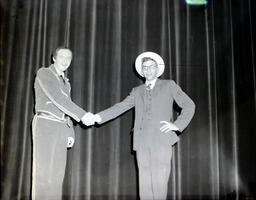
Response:
[[[147,81],[152,81],[157,78],[157,64],[153,60],[147,60],[142,63],[142,74]]]

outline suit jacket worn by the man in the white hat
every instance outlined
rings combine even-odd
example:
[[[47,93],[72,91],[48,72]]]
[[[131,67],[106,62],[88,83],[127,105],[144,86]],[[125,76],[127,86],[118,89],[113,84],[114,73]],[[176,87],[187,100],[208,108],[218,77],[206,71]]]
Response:
[[[133,88],[130,95],[122,102],[98,113],[102,118],[101,123],[104,123],[135,107],[134,150],[145,145],[170,147],[178,141],[176,134],[160,131],[163,125],[160,121],[173,122],[174,101],[182,109],[178,118],[173,122],[179,131],[187,127],[195,112],[194,102],[173,80],[158,79],[151,93],[149,113],[146,106],[148,100],[145,84]]]

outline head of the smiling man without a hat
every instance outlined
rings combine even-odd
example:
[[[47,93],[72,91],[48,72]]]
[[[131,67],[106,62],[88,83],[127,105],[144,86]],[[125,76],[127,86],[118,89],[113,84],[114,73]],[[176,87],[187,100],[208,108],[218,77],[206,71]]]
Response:
[[[72,53],[68,49],[60,49],[53,58],[55,67],[61,72],[66,71],[72,60]]]

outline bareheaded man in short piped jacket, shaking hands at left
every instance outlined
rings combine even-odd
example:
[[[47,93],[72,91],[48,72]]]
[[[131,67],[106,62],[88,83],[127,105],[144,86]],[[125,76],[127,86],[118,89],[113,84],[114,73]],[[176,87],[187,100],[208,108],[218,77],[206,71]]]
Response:
[[[67,148],[71,148],[75,140],[71,118],[88,125],[86,117],[92,115],[70,98],[71,87],[64,72],[72,56],[70,49],[58,47],[53,52],[54,64],[40,68],[35,78],[33,200],[62,199]]]

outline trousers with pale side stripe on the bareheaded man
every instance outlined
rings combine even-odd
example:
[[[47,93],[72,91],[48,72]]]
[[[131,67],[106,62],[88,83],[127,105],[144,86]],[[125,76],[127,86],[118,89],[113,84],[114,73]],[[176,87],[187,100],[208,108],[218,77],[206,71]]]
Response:
[[[73,128],[62,122],[35,116],[32,129],[32,199],[61,199],[67,159],[67,137]]]

